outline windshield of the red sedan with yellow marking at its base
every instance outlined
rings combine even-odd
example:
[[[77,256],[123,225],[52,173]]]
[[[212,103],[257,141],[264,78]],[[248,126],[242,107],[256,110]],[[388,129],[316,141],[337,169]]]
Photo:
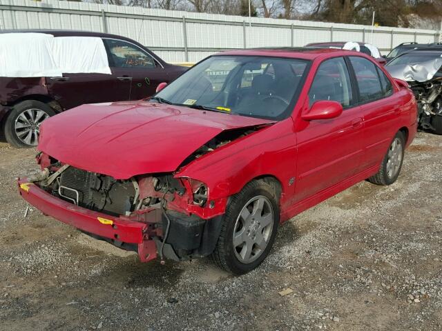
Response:
[[[278,57],[209,57],[152,102],[263,119],[289,116],[309,61]]]

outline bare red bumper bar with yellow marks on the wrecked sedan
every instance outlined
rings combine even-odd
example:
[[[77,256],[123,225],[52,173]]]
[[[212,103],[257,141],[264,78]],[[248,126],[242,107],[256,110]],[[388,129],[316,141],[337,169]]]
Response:
[[[44,214],[98,237],[135,244],[142,262],[157,257],[155,242],[146,233],[148,227],[146,223],[77,207],[52,196],[33,183],[28,183],[26,178],[19,179],[18,185],[21,197]]]

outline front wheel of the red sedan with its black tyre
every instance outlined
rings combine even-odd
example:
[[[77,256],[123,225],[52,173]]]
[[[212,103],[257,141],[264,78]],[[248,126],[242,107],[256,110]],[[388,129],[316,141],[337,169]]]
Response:
[[[220,268],[244,274],[267,257],[276,237],[279,207],[276,190],[267,181],[251,181],[232,197],[212,254]]]

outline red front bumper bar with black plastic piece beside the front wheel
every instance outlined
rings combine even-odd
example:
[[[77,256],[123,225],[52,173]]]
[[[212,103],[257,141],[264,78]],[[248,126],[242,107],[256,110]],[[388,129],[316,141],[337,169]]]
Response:
[[[30,183],[26,177],[17,183],[21,197],[44,214],[73,225],[91,237],[133,250],[142,262],[158,256],[176,261],[204,257],[213,252],[220,233],[220,216],[200,219],[195,215],[152,209],[141,215],[117,217],[61,200]]]

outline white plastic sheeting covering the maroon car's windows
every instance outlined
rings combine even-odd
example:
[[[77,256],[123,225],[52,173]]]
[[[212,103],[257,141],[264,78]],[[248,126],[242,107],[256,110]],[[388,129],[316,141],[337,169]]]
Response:
[[[111,74],[101,38],[0,34],[0,77],[61,77],[81,72]]]

